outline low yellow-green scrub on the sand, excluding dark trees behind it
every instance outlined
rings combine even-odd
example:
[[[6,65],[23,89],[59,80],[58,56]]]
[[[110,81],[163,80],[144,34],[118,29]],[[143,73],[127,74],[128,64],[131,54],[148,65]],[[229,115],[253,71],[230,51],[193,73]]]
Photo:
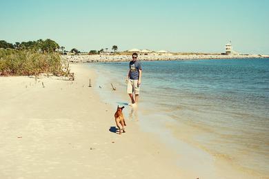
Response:
[[[4,76],[39,75],[52,73],[68,75],[66,61],[57,53],[40,53],[29,50],[0,49],[0,74]]]

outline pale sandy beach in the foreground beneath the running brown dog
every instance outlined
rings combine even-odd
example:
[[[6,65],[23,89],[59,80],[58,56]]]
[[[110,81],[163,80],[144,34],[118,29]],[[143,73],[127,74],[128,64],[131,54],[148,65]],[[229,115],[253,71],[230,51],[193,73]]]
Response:
[[[96,73],[81,64],[71,70],[74,81],[0,78],[0,178],[255,176],[186,143],[165,145],[142,131],[136,120],[126,120],[127,132],[116,134],[117,106],[102,102],[94,87],[88,87],[89,78],[96,83]]]

